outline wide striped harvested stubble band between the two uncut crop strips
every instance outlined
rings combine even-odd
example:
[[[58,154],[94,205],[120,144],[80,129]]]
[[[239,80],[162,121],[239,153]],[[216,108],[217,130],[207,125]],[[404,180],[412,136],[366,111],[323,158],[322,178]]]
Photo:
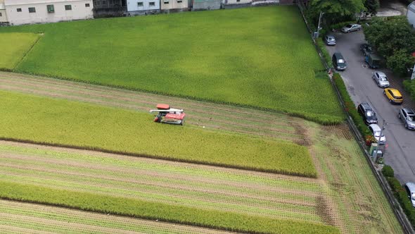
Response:
[[[0,180],[324,223],[317,180],[91,153],[1,142]]]

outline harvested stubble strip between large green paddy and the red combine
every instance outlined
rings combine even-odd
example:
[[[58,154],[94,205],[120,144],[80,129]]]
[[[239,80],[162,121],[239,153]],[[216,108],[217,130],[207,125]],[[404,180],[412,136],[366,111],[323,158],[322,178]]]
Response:
[[[304,120],[283,113],[270,113],[19,73],[0,72],[0,90],[84,101],[141,112],[148,112],[150,109],[155,109],[156,104],[165,103],[184,109],[187,114],[186,123],[194,125],[195,128],[204,126],[233,133],[273,137],[301,145],[309,144],[308,137],[304,135],[305,130],[301,127]]]

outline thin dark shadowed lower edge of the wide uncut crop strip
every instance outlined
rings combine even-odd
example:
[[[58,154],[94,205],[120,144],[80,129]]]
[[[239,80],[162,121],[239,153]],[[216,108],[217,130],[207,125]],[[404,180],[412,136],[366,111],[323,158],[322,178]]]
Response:
[[[177,159],[173,156],[160,156],[156,154],[140,154],[140,153],[134,153],[134,152],[122,152],[118,150],[112,150],[112,149],[104,149],[101,147],[91,147],[91,146],[79,146],[79,145],[73,145],[73,144],[61,144],[61,143],[51,143],[51,142],[38,142],[34,140],[24,140],[24,139],[17,139],[12,137],[0,137],[0,140],[9,141],[9,142],[20,142],[20,143],[29,143],[29,144],[39,144],[43,146],[50,146],[50,147],[63,147],[68,149],[84,149],[84,150],[90,150],[95,152],[103,152],[108,154],[120,154],[124,156],[136,156],[141,158],[148,158],[148,159],[160,159],[160,160],[166,160],[166,161],[177,161],[181,163],[189,163],[189,164],[200,164],[200,165],[207,165],[207,166],[219,166],[224,168],[234,168],[234,169],[241,169],[245,171],[257,171],[262,173],[274,173],[279,175],[285,175],[285,176],[298,176],[300,178],[317,178],[317,175],[306,175],[305,173],[289,173],[288,171],[279,171],[274,169],[261,169],[261,168],[254,168],[250,166],[235,166],[231,164],[222,164],[222,163],[213,163],[208,161],[198,161],[198,160],[191,160],[191,159]]]

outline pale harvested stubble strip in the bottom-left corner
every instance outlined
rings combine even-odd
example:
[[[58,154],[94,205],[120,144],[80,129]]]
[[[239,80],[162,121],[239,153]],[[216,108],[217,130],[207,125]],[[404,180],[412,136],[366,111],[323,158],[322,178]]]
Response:
[[[228,233],[7,200],[0,200],[0,217],[0,233]]]

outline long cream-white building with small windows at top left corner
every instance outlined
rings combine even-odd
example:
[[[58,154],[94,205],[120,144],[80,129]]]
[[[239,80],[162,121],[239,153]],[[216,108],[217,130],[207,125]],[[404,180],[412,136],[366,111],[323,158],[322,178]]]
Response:
[[[92,0],[4,0],[11,25],[94,18]]]

